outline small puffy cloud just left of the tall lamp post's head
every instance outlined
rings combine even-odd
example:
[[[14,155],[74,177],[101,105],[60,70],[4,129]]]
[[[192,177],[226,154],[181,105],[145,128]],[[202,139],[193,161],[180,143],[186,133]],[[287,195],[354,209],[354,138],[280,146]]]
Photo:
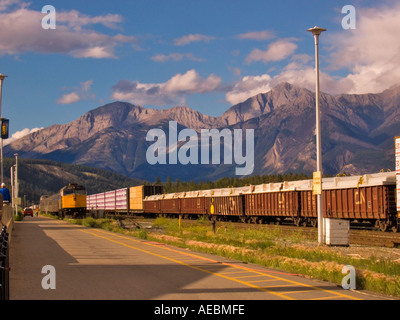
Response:
[[[277,40],[271,43],[267,50],[254,49],[246,58],[246,62],[262,61],[268,63],[270,61],[284,60],[294,53],[297,45],[289,40]]]

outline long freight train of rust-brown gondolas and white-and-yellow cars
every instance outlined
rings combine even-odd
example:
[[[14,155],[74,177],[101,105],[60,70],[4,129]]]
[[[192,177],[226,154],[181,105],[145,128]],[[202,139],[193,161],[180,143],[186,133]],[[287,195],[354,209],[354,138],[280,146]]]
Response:
[[[325,218],[367,222],[386,231],[399,230],[395,173],[324,178]],[[238,188],[163,194],[161,186],[139,186],[87,197],[88,212],[169,215],[253,223],[290,221],[317,225],[317,199],[312,180],[285,181]]]

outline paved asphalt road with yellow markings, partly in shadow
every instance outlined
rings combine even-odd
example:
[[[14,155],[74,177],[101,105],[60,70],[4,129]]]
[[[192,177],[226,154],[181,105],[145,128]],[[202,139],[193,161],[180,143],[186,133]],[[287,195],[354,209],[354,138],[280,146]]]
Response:
[[[41,216],[15,222],[10,267],[11,300],[386,299]]]

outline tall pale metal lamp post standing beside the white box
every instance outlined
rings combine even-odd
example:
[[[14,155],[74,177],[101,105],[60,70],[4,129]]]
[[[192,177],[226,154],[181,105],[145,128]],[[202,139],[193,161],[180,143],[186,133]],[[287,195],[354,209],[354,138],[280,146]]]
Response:
[[[326,29],[315,26],[314,28],[307,29],[312,32],[315,40],[315,122],[316,122],[316,136],[317,136],[317,173],[320,177],[321,188],[317,194],[317,210],[318,210],[318,243],[324,242],[324,226],[323,226],[323,203],[322,203],[322,148],[321,148],[321,113],[319,108],[319,53],[318,42],[319,35],[326,31]]]

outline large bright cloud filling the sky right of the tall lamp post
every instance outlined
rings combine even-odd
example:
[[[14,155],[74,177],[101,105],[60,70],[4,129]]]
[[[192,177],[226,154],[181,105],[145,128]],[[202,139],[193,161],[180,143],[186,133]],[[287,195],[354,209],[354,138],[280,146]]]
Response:
[[[377,93],[400,83],[400,4],[357,9],[357,27],[328,35],[335,44],[331,68],[349,74],[348,93]]]

